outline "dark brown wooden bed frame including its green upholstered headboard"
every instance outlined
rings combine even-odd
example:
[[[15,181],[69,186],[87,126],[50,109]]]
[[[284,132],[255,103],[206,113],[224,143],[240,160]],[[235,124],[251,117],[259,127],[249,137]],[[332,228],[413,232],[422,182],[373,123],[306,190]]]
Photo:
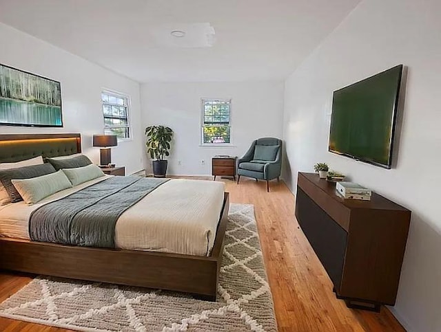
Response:
[[[0,135],[0,162],[18,162],[37,155],[54,157],[80,152],[80,134]],[[183,291],[204,300],[215,301],[228,209],[229,195],[225,192],[210,256],[72,247],[0,238],[0,269]]]

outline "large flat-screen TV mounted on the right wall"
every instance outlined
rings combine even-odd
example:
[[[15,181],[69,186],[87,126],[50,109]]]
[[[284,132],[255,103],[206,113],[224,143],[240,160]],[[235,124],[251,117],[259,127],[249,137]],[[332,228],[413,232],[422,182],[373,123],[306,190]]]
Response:
[[[402,65],[334,91],[329,151],[391,168]]]

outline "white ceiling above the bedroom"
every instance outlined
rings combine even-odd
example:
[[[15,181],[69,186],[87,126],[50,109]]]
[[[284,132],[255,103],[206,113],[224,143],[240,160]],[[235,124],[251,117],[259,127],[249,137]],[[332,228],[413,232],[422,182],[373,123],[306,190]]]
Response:
[[[0,21],[138,82],[280,80],[359,2],[0,0]],[[158,41],[198,23],[214,28],[211,47]]]

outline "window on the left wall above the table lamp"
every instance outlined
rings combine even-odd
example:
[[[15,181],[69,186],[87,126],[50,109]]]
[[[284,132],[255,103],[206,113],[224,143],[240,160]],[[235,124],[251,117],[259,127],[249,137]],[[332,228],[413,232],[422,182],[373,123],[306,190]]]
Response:
[[[116,135],[118,138],[130,138],[129,98],[117,93],[101,93],[104,114],[105,135]]]

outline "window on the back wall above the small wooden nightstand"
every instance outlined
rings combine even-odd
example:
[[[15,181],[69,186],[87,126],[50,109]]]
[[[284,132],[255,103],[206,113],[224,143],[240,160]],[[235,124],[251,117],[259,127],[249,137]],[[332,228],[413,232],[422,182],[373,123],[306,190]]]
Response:
[[[231,143],[231,100],[202,100],[203,144]]]

